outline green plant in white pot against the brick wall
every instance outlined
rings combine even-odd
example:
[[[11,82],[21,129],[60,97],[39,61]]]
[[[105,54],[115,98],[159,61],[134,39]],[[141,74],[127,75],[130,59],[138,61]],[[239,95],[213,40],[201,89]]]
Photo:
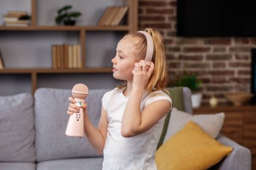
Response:
[[[202,99],[202,93],[198,91],[200,84],[201,80],[197,79],[197,75],[183,75],[175,85],[189,87],[192,92],[192,106],[193,108],[198,108],[201,105]]]

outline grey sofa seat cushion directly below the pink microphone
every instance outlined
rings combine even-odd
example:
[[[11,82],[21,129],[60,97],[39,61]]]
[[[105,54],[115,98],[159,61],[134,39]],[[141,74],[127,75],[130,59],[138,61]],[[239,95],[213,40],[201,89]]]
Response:
[[[36,170],[102,170],[103,158],[61,159],[42,161],[37,164]]]

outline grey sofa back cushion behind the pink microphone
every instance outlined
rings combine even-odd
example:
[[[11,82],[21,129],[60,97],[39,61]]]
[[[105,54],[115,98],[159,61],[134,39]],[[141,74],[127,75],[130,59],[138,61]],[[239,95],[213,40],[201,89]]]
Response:
[[[86,102],[92,124],[98,126],[102,96],[108,89],[90,90]],[[36,90],[34,112],[36,115],[36,159],[68,159],[100,157],[86,139],[65,135],[69,115],[67,108],[71,89],[40,88]]]

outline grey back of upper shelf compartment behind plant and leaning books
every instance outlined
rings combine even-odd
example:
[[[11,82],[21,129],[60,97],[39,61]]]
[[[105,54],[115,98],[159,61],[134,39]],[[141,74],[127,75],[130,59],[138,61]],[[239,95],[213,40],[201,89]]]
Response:
[[[5,0],[7,1],[7,0]],[[33,0],[36,1],[36,0]],[[133,0],[131,0],[133,1]],[[77,26],[96,26],[98,20],[106,10],[106,7],[113,5],[129,5],[130,0],[73,0],[69,1],[73,6],[71,11],[80,11],[82,15],[77,17]],[[68,3],[68,4],[69,4]],[[36,1],[36,22],[38,26],[55,26],[55,17],[57,10],[63,5],[67,5],[67,1],[63,0],[40,0]]]

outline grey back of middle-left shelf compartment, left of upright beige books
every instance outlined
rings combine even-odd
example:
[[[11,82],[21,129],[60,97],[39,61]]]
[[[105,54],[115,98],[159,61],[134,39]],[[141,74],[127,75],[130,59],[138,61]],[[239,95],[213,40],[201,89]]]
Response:
[[[5,68],[52,67],[51,46],[79,44],[80,32],[0,32],[0,50]]]

